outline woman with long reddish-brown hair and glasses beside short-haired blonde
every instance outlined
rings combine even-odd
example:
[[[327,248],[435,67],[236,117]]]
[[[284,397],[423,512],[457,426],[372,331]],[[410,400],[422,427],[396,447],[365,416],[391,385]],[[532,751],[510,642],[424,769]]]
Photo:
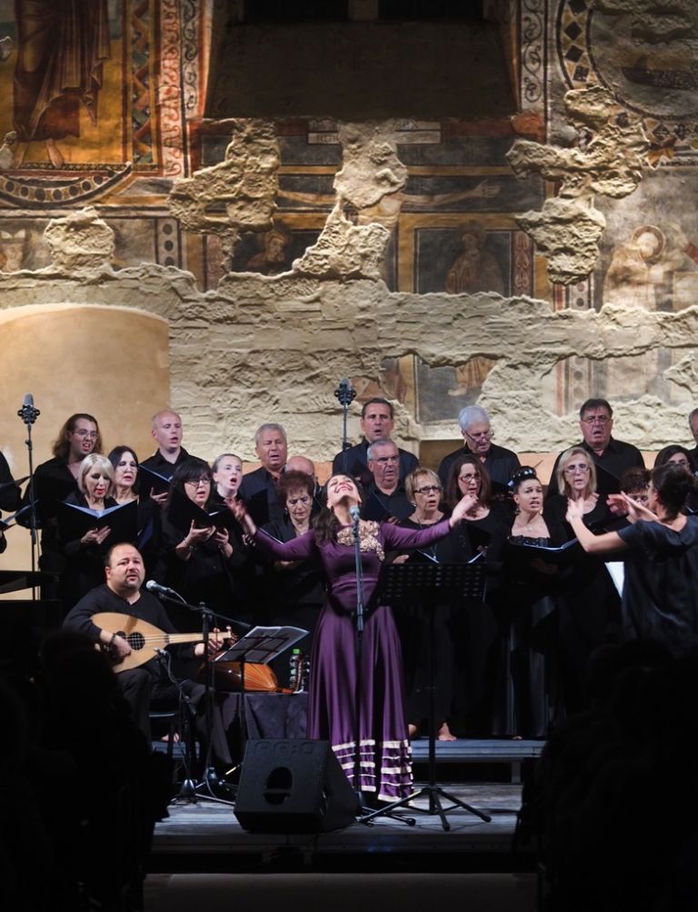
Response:
[[[493,501],[492,482],[476,456],[451,466],[444,502],[451,508],[464,494],[474,503],[458,532],[466,554],[484,553],[487,590],[482,605],[466,603],[454,618],[456,679],[454,715],[469,737],[508,733],[505,719],[505,636],[501,626],[501,561],[511,519],[505,503]]]

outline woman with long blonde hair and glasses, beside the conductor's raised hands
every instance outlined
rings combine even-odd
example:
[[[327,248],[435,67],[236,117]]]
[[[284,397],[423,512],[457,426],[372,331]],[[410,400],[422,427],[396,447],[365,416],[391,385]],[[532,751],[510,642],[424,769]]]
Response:
[[[613,522],[606,498],[597,492],[596,466],[589,453],[571,447],[557,462],[557,485],[562,493],[548,497],[543,515],[556,541],[575,538],[566,519],[568,500],[578,504],[584,524],[594,533]],[[561,581],[559,596],[559,658],[565,710],[589,706],[588,665],[591,653],[620,638],[620,596],[603,560],[577,554]]]

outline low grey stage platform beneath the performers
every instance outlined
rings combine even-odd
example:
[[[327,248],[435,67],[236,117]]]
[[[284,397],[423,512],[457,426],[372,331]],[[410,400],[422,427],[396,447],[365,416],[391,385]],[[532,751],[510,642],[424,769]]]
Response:
[[[379,817],[373,824],[351,823],[320,834],[248,833],[238,823],[234,804],[178,798],[170,817],[156,826],[150,869],[153,873],[294,872],[532,872],[530,846],[515,851],[516,815],[521,805],[518,772],[537,758],[542,741],[458,740],[436,744],[437,784],[457,799],[492,817],[474,814],[443,800],[450,829],[443,829],[426,796],[419,810],[401,811],[409,826]],[[415,791],[425,784],[429,743],[412,743]],[[510,777],[501,764],[511,764]],[[448,771],[443,782],[439,771]],[[455,772],[455,776],[453,773]],[[491,773],[488,780],[487,774]],[[499,779],[505,781],[498,781]],[[497,781],[495,781],[497,780]],[[233,793],[228,794],[233,798]]]

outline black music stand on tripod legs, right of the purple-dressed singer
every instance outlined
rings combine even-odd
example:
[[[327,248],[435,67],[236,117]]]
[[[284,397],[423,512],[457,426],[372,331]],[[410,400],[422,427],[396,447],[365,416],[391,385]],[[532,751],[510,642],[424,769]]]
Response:
[[[462,807],[489,824],[492,817],[478,811],[470,804],[456,798],[436,784],[436,720],[434,707],[434,609],[444,602],[474,601],[482,602],[485,587],[485,566],[480,555],[469,564],[391,564],[385,568],[381,581],[380,603],[391,606],[423,606],[429,612],[429,782],[418,792],[414,792],[401,801],[393,802],[382,811],[367,814],[361,821],[397,807],[411,803],[415,798],[427,795],[429,807],[411,807],[411,810],[422,814],[438,814],[444,830],[450,830],[451,824],[446,814],[455,807]],[[452,802],[451,807],[443,807],[442,798]]]

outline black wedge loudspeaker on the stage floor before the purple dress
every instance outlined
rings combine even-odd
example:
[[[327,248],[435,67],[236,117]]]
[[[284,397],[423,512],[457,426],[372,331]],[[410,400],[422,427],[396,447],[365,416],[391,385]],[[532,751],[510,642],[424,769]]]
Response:
[[[327,833],[359,813],[328,741],[247,741],[235,816],[249,833]]]

